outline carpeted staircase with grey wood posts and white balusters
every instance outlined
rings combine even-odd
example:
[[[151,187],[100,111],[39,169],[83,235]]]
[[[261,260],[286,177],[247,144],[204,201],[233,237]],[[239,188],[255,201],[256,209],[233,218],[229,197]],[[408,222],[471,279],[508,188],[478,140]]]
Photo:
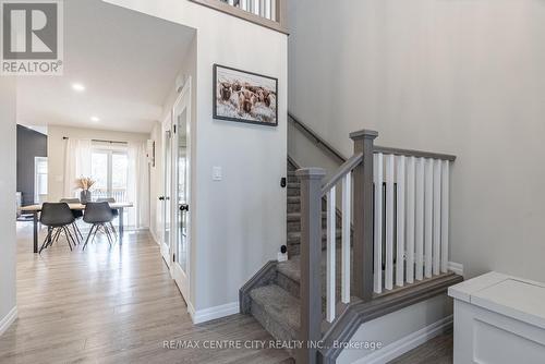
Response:
[[[354,155],[328,179],[288,158],[289,260],[268,262],[240,290],[241,313],[292,343],[298,363],[335,363],[342,351],[335,342],[350,341],[364,323],[462,280],[448,270],[455,157],[376,147],[376,136],[352,133]]]

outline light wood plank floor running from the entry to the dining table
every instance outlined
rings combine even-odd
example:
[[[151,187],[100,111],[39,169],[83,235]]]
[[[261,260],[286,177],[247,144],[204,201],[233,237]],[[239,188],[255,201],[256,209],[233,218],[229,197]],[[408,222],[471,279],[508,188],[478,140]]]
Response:
[[[147,232],[125,232],[70,252],[61,241],[32,253],[17,222],[19,319],[0,338],[0,363],[281,363],[283,350],[175,349],[169,340],[272,340],[250,316],[193,326]]]

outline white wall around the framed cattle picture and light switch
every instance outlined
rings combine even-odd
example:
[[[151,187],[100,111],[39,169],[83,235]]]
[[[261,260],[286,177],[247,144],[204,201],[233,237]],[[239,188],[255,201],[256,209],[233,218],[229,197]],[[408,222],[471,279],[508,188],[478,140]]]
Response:
[[[183,0],[108,0],[197,31],[193,85],[192,295],[196,311],[231,305],[286,243],[287,36]],[[213,64],[279,78],[279,126],[211,118]],[[214,166],[223,180],[213,182]]]

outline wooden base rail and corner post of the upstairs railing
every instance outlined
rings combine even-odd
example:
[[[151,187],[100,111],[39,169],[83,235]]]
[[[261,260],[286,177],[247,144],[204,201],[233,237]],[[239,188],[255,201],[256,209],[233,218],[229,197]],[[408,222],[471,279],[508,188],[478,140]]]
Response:
[[[221,0],[190,0],[190,1],[242,19],[246,22],[251,22],[279,33],[283,33],[286,35],[289,34],[286,22],[287,0],[276,1],[276,17],[277,17],[276,21],[242,10],[238,7],[231,5]]]

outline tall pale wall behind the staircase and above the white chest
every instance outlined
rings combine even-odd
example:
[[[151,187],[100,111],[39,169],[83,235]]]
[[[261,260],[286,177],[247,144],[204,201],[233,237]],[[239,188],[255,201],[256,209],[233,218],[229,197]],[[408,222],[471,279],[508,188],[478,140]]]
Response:
[[[290,111],[346,155],[457,155],[451,260],[545,281],[545,2],[289,3]]]

